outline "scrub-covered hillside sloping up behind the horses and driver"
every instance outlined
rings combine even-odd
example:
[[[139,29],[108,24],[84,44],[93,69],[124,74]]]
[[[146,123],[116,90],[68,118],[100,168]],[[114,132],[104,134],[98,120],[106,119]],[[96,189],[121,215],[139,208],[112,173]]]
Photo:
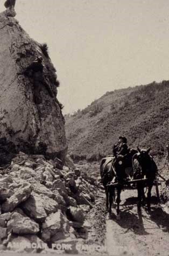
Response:
[[[105,93],[87,108],[66,115],[69,153],[74,160],[111,154],[119,135],[130,147],[152,147],[162,157],[168,143],[169,81]]]

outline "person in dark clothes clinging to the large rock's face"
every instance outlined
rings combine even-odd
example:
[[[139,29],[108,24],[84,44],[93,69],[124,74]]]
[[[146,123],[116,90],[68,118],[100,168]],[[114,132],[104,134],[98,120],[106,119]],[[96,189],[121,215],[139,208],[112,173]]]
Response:
[[[41,96],[40,96],[40,89],[42,85],[46,86],[46,89],[48,93],[50,94],[51,97],[53,97],[52,90],[50,86],[47,84],[47,82],[44,79],[43,75],[43,70],[44,70],[44,65],[43,65],[43,58],[37,57],[31,65],[29,65],[24,74],[27,75],[29,71],[32,71],[32,77],[33,77],[33,85],[34,85],[34,102],[37,104],[40,104],[42,102]]]

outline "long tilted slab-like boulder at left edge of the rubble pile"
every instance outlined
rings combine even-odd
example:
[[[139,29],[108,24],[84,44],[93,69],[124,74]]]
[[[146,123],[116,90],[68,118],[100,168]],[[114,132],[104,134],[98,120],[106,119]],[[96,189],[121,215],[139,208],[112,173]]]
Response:
[[[2,212],[11,212],[17,205],[24,202],[31,195],[31,185],[18,188],[15,193],[7,198],[6,201],[2,204]]]

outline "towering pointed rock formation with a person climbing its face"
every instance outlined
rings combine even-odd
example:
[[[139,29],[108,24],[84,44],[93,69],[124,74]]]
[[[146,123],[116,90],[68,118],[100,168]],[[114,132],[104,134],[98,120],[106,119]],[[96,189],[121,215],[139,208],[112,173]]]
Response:
[[[42,45],[32,40],[12,16],[15,13],[9,9],[0,14],[0,144],[5,147],[12,143],[17,151],[46,151],[65,161],[65,120],[57,100],[55,68]],[[22,73],[38,56],[43,58],[46,81],[40,88],[40,104],[33,99],[31,74]]]

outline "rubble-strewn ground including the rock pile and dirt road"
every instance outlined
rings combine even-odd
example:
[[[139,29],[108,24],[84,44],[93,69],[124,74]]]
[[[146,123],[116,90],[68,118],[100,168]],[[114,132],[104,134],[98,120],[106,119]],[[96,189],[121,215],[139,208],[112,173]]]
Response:
[[[156,190],[151,213],[137,211],[136,190],[123,191],[117,220],[115,208],[105,211],[99,182],[98,163],[67,157],[61,169],[58,158],[20,152],[0,168],[1,252],[168,255],[168,213]],[[167,191],[160,187],[162,199]]]

